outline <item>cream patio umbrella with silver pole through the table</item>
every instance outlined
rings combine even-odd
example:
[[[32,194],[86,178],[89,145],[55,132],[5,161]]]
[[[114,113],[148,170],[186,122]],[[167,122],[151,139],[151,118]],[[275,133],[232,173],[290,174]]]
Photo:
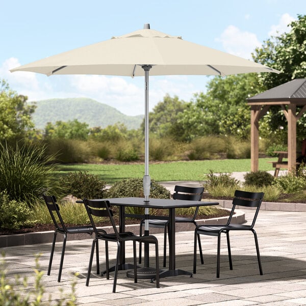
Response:
[[[228,75],[248,72],[276,72],[270,67],[206,46],[144,29],[64,52],[10,70],[46,75],[104,74],[145,77],[145,171],[144,200],[150,194],[148,86],[150,75]],[[148,214],[146,209],[145,214]],[[145,222],[148,232],[148,222]]]

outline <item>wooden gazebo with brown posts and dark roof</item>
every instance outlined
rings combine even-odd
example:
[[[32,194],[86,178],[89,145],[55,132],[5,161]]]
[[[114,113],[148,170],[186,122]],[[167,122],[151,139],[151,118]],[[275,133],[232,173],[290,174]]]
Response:
[[[258,171],[259,120],[279,105],[288,122],[288,170],[296,169],[296,122],[306,111],[306,79],[296,79],[247,99],[251,107],[251,171]],[[301,110],[297,113],[297,107]],[[306,131],[305,131],[306,138]]]

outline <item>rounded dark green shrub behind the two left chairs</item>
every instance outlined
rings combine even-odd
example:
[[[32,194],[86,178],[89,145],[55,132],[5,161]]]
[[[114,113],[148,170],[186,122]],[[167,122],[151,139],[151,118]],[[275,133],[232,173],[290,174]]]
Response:
[[[60,183],[66,195],[72,194],[80,199],[104,197],[106,183],[99,180],[97,175],[88,172],[70,172],[61,177]]]

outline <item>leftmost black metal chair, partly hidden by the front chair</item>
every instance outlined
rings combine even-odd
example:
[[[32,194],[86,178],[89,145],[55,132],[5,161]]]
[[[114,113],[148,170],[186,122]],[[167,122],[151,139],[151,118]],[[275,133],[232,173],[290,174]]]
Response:
[[[66,226],[61,216],[60,207],[58,206],[56,197],[54,195],[43,195],[43,198],[45,200],[46,206],[53,220],[53,223],[55,225],[54,238],[53,238],[52,249],[50,253],[50,260],[49,260],[49,267],[48,267],[47,275],[50,275],[50,272],[51,272],[51,266],[52,266],[52,260],[53,260],[57,233],[63,234],[64,236],[60,268],[59,268],[59,276],[58,276],[58,282],[60,282],[61,276],[62,276],[62,268],[63,268],[63,262],[64,262],[67,235],[68,234],[80,234],[80,233],[87,233],[87,234],[92,235],[93,228],[91,226],[73,226],[73,227]],[[106,234],[106,232],[103,230],[99,229],[99,231]],[[99,272],[99,265],[98,265],[98,262],[99,262],[98,244],[97,244],[96,260],[97,260],[97,274],[99,274],[100,272]]]

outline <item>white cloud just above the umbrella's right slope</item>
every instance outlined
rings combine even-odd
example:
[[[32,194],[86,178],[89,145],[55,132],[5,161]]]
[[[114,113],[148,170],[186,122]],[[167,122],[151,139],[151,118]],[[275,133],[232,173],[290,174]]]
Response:
[[[253,50],[261,45],[256,34],[241,31],[235,25],[228,25],[216,41],[222,43],[226,52],[246,59],[250,59]]]

